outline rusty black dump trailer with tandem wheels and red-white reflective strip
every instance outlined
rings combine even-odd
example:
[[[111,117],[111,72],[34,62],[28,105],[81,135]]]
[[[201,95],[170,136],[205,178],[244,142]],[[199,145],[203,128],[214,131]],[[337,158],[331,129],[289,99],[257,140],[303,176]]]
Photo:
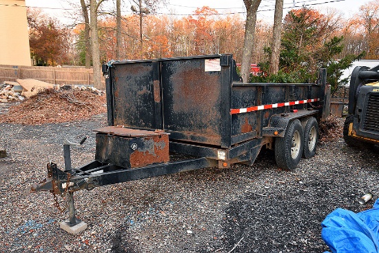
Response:
[[[32,192],[73,192],[207,167],[251,165],[261,148],[275,151],[278,167],[294,170],[314,156],[318,123],[329,115],[326,70],[316,83],[243,83],[231,54],[103,65],[108,126],[96,132],[94,161],[65,169],[48,163],[48,177]],[[79,145],[81,143],[78,143]],[[170,161],[170,153],[185,154]]]

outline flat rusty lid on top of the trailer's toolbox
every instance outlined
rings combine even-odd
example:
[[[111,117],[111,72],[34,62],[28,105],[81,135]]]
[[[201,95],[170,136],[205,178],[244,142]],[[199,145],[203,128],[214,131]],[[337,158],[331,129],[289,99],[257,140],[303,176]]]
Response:
[[[163,130],[155,130],[155,131],[137,130],[137,129],[124,128],[123,126],[107,126],[104,128],[95,129],[94,132],[99,132],[103,134],[112,134],[112,135],[117,135],[117,136],[126,136],[126,137],[141,137],[141,136],[154,136],[154,135],[169,134],[167,132],[164,132]]]

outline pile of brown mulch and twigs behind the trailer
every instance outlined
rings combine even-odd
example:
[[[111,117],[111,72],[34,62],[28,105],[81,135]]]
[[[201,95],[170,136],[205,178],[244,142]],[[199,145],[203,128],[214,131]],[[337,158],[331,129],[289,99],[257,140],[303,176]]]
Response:
[[[89,119],[107,111],[106,96],[90,90],[44,90],[0,114],[0,123],[41,125]]]

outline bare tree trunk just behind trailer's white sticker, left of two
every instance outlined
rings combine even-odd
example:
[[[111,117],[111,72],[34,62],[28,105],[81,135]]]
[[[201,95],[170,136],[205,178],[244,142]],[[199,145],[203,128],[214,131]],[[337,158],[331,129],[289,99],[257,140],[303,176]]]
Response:
[[[241,77],[244,83],[249,81],[250,61],[255,39],[256,12],[261,0],[243,0],[245,3],[247,17],[245,24],[245,41],[243,44],[243,54],[241,62]]]

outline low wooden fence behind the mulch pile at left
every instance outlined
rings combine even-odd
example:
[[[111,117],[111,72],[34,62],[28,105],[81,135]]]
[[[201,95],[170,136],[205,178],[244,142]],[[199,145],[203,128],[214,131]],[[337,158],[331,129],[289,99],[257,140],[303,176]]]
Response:
[[[17,79],[36,79],[53,84],[93,85],[94,70],[92,68],[58,68],[30,67],[17,65],[0,65],[0,83]],[[101,79],[100,89],[105,88],[105,79]]]

